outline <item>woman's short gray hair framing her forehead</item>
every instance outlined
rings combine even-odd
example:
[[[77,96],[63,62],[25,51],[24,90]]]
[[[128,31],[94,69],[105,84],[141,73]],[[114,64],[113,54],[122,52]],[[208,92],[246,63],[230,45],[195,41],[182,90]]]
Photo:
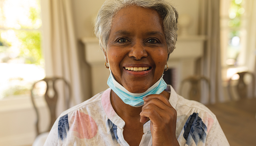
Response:
[[[106,52],[113,17],[119,10],[128,6],[152,8],[160,14],[170,54],[175,49],[177,40],[178,12],[173,5],[164,0],[106,0],[98,12],[94,28],[102,51]]]

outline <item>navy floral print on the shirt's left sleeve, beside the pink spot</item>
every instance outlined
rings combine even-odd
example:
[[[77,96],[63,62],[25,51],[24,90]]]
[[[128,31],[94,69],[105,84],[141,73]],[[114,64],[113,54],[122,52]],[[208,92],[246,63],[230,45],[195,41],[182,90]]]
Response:
[[[68,117],[67,114],[60,117],[58,124],[58,138],[62,141],[67,137],[67,132],[69,131]]]

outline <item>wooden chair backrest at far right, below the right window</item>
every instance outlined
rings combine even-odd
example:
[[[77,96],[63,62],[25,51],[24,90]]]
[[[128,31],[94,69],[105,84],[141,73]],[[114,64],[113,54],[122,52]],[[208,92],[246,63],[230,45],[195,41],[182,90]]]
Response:
[[[255,96],[255,76],[254,76],[254,74],[251,73],[251,72],[247,72],[247,71],[246,72],[238,72],[236,74],[239,75],[238,83],[237,83],[237,85],[235,85],[235,89],[238,93],[239,98],[242,99],[242,98],[247,98],[248,97],[248,85],[246,85],[245,81],[244,81],[244,75],[246,75],[246,74],[249,74],[252,77],[252,82],[251,82],[252,83],[252,90],[251,90],[251,92],[252,92],[252,97],[254,97]],[[231,98],[231,100],[234,99],[232,91],[231,91],[231,84],[232,84],[231,82],[233,81],[232,77],[228,80],[228,94],[229,94],[229,97]]]

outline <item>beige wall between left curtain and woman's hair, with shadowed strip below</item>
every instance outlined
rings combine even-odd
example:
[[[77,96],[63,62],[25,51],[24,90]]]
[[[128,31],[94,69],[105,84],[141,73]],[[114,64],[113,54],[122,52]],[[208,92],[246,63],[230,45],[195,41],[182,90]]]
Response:
[[[72,2],[73,20],[75,27],[75,35],[77,40],[79,65],[81,68],[82,87],[84,97],[82,101],[91,98],[91,80],[90,66],[85,62],[84,46],[80,39],[84,36],[93,36],[93,18],[96,17],[97,11],[100,9],[104,0],[75,0]]]

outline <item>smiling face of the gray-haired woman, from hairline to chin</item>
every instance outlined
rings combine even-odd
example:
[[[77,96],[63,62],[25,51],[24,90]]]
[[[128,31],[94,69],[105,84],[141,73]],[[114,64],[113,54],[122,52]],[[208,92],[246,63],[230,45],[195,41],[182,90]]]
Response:
[[[143,93],[163,74],[168,50],[160,15],[130,6],[113,18],[106,61],[115,80],[132,93]]]

